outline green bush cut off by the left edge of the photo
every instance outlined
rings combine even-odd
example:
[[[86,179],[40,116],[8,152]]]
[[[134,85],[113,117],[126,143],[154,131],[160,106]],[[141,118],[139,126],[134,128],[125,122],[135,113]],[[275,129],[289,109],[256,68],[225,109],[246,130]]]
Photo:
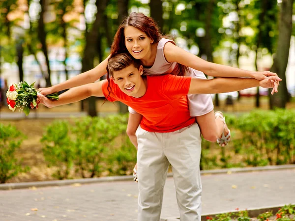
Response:
[[[22,167],[22,160],[15,157],[24,136],[14,126],[0,124],[0,183],[5,183],[20,172],[29,171]]]

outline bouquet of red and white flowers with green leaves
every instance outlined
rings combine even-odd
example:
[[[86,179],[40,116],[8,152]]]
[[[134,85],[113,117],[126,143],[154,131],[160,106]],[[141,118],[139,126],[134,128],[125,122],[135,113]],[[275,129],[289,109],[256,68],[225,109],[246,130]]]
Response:
[[[15,111],[19,108],[19,111],[24,111],[28,116],[30,104],[34,107],[37,106],[37,93],[38,90],[34,88],[34,83],[29,85],[27,82],[19,82],[18,84],[11,84],[6,93],[8,108],[11,111]],[[46,97],[59,100],[59,94],[53,93],[46,95]]]

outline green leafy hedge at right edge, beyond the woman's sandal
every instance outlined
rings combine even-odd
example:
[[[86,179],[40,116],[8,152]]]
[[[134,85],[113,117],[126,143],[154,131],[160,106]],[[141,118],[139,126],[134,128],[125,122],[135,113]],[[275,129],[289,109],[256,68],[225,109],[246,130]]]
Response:
[[[292,110],[252,111],[241,116],[236,128],[242,138],[234,145],[242,145],[251,166],[295,163],[295,112]]]

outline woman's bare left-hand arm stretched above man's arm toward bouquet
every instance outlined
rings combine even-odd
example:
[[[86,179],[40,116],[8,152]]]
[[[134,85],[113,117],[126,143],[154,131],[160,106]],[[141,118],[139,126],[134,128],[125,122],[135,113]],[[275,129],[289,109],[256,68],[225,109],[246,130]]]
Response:
[[[109,59],[109,56],[105,60],[103,60],[100,64],[98,64],[95,68],[87,72],[84,72],[82,74],[79,74],[65,82],[53,85],[51,87],[40,88],[40,93],[47,95],[47,94],[52,94],[54,92],[58,92],[61,90],[66,90],[72,87],[84,85],[87,83],[93,83],[107,73],[108,59]]]

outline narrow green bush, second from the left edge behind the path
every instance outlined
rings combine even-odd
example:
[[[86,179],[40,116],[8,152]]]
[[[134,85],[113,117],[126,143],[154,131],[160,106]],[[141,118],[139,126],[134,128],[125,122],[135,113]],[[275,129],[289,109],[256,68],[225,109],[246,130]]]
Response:
[[[68,122],[53,122],[47,127],[41,142],[45,144],[43,154],[45,161],[48,162],[48,166],[58,167],[57,172],[53,176],[58,179],[69,178],[75,152],[73,141],[69,136]]]

